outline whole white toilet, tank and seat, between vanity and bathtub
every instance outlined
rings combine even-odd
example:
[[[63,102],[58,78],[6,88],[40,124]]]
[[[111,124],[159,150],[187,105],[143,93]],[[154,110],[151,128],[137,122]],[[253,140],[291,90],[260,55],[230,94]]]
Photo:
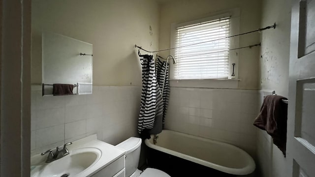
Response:
[[[165,172],[154,168],[147,168],[144,171],[138,170],[138,163],[141,149],[140,138],[130,137],[116,147],[126,151],[125,172],[126,177],[170,177]]]

